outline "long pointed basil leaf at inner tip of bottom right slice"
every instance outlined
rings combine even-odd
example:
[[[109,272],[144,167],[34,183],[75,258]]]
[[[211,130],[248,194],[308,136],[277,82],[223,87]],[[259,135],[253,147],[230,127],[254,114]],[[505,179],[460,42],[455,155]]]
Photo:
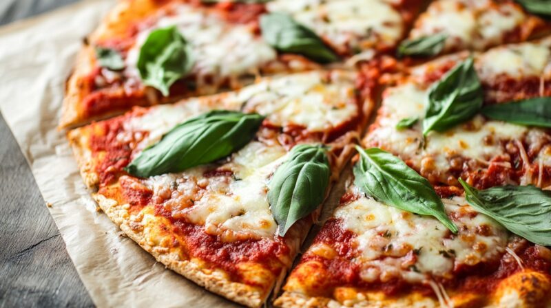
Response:
[[[353,168],[355,186],[388,206],[433,216],[457,233],[457,226],[446,216],[444,203],[427,179],[380,148],[356,146],[356,150],[360,160]]]

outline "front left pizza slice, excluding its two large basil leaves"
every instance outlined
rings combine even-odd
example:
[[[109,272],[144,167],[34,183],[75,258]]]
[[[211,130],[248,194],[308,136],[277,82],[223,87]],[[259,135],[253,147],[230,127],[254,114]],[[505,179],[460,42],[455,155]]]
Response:
[[[365,122],[365,108],[373,104],[361,95],[368,89],[358,88],[357,79],[344,71],[267,78],[236,92],[134,109],[68,137],[94,199],[130,238],[212,292],[260,307],[282,282],[319,214],[315,204],[280,236],[266,199],[267,182],[289,152],[304,144],[324,144],[327,179],[339,177]],[[177,124],[222,110],[265,115],[250,142],[229,157],[149,177],[123,168]]]

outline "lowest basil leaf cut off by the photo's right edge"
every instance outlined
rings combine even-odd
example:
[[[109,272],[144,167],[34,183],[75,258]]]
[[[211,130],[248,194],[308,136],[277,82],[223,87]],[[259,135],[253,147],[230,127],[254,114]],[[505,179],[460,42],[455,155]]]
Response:
[[[462,179],[459,183],[472,208],[532,243],[551,246],[551,192],[512,185],[477,190]]]

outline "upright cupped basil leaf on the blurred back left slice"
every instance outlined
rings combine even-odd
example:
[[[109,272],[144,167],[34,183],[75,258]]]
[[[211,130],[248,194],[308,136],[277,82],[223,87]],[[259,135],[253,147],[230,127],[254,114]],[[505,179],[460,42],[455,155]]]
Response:
[[[170,86],[185,77],[194,61],[191,46],[176,27],[154,30],[147,36],[138,56],[138,70],[145,85],[169,95]]]

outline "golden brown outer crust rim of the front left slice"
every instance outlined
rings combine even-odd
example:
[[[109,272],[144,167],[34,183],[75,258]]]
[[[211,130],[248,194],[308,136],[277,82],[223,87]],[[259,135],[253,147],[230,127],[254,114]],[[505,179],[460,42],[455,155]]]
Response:
[[[90,130],[83,127],[67,133],[67,138],[70,141],[74,156],[79,164],[81,176],[83,177],[85,185],[90,190],[97,191],[99,184],[98,174],[94,171],[92,152],[90,148],[86,146],[90,133],[92,133]],[[227,278],[227,275],[222,270],[207,270],[205,267],[201,266],[202,262],[200,259],[184,260],[180,257],[180,254],[178,254],[178,251],[170,250],[163,246],[163,241],[171,240],[170,236],[165,236],[164,239],[158,239],[158,236],[145,232],[146,229],[143,228],[143,225],[133,220],[133,217],[129,214],[129,204],[120,204],[118,201],[107,198],[97,192],[92,193],[92,197],[98,203],[101,210],[107,214],[107,217],[125,232],[130,239],[138,243],[143,250],[152,254],[156,261],[163,263],[168,269],[185,276],[211,292],[248,307],[260,307],[267,301],[272,291],[274,294],[278,294],[280,287],[283,285],[284,278],[289,269],[283,271],[280,276],[275,277],[272,285],[266,289],[229,281],[229,278]],[[146,212],[147,208],[152,210],[152,207],[146,206],[144,209]],[[142,210],[141,213],[143,213],[144,210]],[[319,214],[320,208],[313,212],[312,216],[318,217]],[[156,223],[152,223],[153,226],[160,227],[163,225],[161,221],[163,217],[155,217],[155,219]],[[293,228],[295,229],[294,232],[301,234],[295,251],[298,251],[298,247],[306,238],[306,234],[310,230],[313,220],[314,219],[302,220],[296,223],[295,228]],[[289,232],[292,231],[290,230]]]

